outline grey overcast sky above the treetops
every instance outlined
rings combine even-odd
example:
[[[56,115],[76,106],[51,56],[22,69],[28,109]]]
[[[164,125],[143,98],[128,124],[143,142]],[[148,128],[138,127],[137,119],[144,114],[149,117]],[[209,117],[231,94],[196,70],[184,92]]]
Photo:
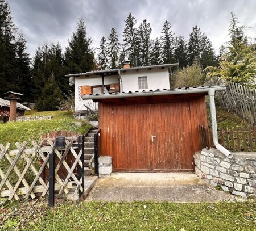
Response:
[[[85,19],[87,33],[98,47],[102,36],[108,37],[110,28],[117,28],[120,39],[124,22],[131,12],[137,26],[143,19],[151,23],[151,38],[160,36],[164,21],[172,24],[175,36],[188,39],[197,25],[212,41],[218,51],[228,40],[229,11],[233,11],[243,25],[253,27],[247,34],[256,34],[255,0],[7,0],[13,20],[26,35],[28,52],[34,52],[44,41],[55,41],[65,48],[77,19]]]

